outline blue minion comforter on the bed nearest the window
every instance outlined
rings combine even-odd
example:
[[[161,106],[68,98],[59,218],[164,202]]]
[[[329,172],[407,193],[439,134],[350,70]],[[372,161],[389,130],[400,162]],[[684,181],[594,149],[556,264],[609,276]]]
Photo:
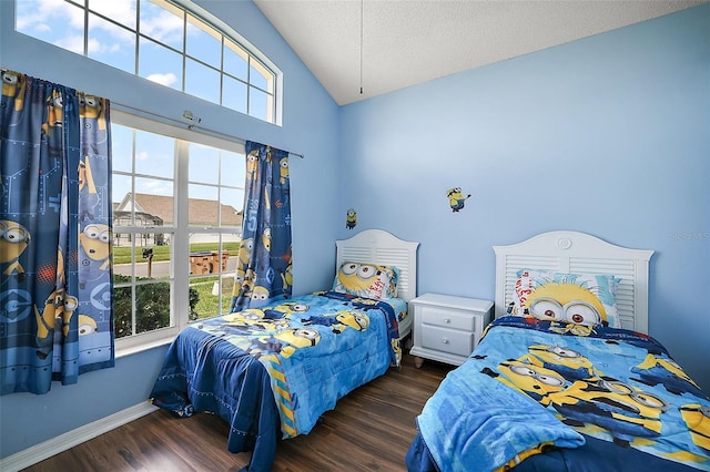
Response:
[[[315,293],[203,320],[170,346],[150,394],[179,417],[230,423],[227,450],[270,471],[276,442],[306,434],[355,388],[402,358],[402,299]]]

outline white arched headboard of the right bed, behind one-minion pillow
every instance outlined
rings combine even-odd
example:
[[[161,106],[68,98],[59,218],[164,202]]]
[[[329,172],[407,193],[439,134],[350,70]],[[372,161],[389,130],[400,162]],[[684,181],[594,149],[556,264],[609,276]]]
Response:
[[[652,250],[627,249],[577,232],[549,232],[496,253],[496,318],[506,315],[517,273],[524,268],[574,274],[612,274],[621,327],[648,334],[648,266]]]

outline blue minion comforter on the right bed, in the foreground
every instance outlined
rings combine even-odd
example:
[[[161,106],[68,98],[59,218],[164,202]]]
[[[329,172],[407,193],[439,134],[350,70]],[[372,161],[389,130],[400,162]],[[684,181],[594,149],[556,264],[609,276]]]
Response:
[[[710,470],[710,399],[655,339],[495,320],[417,418],[409,471]]]

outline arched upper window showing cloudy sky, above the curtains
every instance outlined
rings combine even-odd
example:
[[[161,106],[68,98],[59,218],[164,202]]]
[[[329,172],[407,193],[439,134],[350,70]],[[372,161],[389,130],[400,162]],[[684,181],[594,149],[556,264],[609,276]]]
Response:
[[[268,123],[276,66],[191,2],[16,1],[16,30]]]

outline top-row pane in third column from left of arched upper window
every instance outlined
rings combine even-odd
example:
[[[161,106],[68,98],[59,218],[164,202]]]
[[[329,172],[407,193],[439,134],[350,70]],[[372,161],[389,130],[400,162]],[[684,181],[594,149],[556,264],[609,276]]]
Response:
[[[141,34],[178,51],[183,50],[183,18],[182,10],[164,0],[141,0]]]

